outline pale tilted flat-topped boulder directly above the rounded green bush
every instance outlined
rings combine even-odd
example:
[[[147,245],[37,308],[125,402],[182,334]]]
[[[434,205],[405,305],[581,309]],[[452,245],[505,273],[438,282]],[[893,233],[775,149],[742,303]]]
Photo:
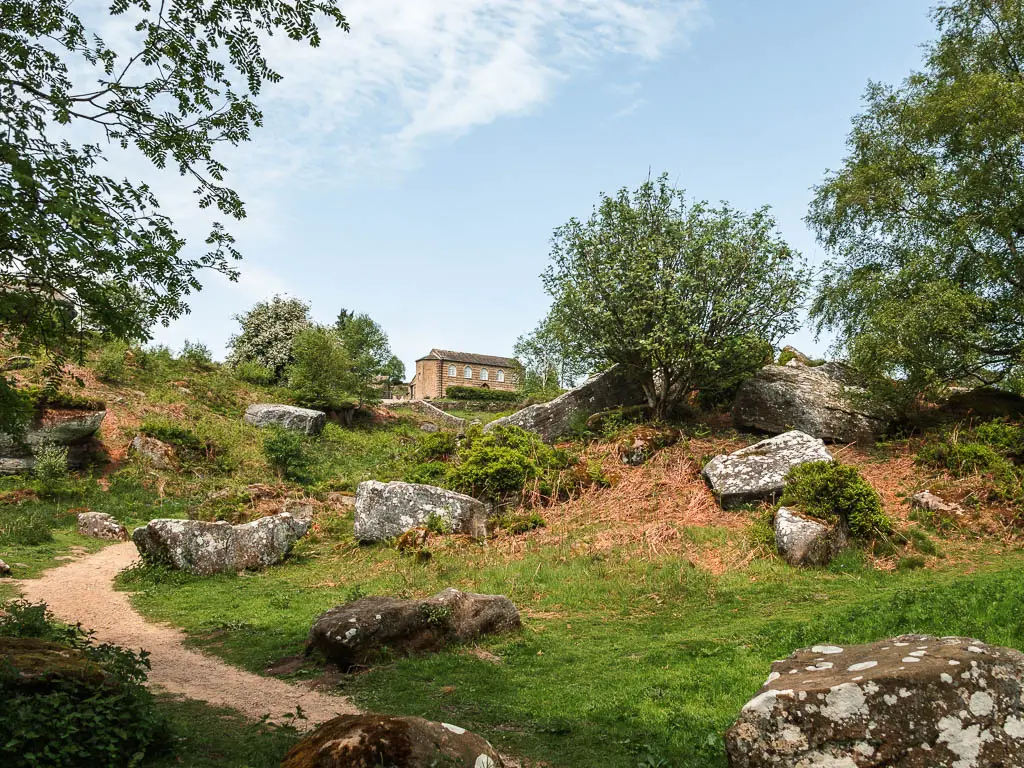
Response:
[[[733,454],[716,456],[703,468],[723,509],[773,500],[782,493],[790,470],[808,462],[830,461],[824,442],[793,430]]]

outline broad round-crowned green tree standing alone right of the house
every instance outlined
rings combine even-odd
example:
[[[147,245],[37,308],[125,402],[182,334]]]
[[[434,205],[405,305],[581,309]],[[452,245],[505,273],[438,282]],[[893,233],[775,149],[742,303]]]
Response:
[[[597,368],[621,365],[656,417],[762,365],[796,327],[806,281],[767,209],[687,204],[668,176],[602,196],[555,230],[550,322]]]

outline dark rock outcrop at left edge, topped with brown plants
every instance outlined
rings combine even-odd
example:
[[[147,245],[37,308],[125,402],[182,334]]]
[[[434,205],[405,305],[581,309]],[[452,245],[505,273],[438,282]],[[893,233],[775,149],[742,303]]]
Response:
[[[0,474],[31,472],[36,466],[33,453],[47,444],[68,447],[68,466],[85,463],[86,444],[99,429],[105,411],[55,411],[29,425],[19,437],[0,432]]]

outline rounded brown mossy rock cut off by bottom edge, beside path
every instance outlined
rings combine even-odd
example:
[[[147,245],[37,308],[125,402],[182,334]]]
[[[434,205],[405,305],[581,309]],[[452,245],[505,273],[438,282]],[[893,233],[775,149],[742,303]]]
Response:
[[[414,717],[342,715],[285,756],[281,768],[503,768],[483,738],[449,723]]]

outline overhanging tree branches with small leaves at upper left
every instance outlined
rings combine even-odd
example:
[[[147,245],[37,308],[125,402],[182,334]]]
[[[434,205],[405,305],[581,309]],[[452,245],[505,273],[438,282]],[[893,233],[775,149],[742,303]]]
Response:
[[[281,79],[262,41],[316,46],[321,22],[347,29],[335,0],[114,0],[85,20],[69,0],[0,4],[0,328],[47,349],[55,374],[80,318],[147,340],[187,310],[198,271],[233,276],[221,222],[205,254],[186,253],[150,186],[103,162],[137,151],[187,176],[201,208],[243,217],[217,148],[250,139],[256,96]]]

